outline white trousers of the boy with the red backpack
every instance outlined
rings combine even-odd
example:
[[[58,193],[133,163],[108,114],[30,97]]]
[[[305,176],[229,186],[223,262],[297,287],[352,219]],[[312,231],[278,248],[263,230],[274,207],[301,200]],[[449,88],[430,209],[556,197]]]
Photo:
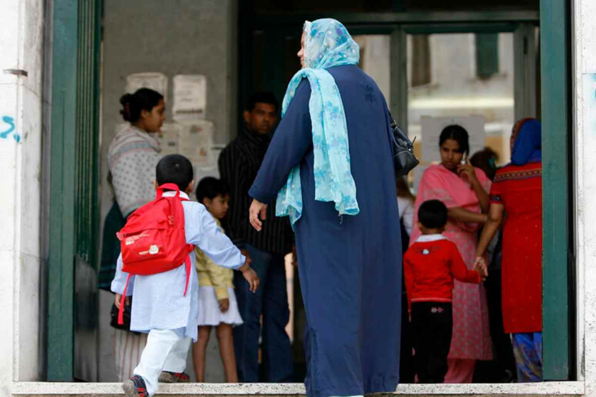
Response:
[[[145,381],[148,395],[157,392],[157,379],[162,371],[184,372],[191,342],[190,337],[184,336],[184,329],[149,332],[141,362],[133,371]]]

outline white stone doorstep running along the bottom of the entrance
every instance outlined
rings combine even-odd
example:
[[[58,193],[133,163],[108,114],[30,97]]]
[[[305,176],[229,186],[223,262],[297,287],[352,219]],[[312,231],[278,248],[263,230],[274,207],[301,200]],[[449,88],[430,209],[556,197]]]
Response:
[[[13,382],[13,396],[122,395],[120,383]],[[396,395],[583,395],[584,382],[473,383],[468,385],[399,385]],[[178,383],[160,384],[159,395],[303,396],[302,383]]]

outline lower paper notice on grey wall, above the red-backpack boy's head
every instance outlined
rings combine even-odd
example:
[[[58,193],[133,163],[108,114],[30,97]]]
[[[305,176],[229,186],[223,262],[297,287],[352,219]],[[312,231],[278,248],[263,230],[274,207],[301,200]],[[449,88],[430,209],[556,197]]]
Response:
[[[213,135],[215,126],[209,120],[180,120],[178,148],[195,167],[213,167]]]

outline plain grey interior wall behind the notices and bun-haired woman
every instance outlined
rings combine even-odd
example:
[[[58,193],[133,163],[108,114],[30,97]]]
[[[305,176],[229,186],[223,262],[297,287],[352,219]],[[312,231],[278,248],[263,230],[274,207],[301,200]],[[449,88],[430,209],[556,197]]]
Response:
[[[105,183],[106,153],[116,124],[122,122],[119,99],[125,92],[126,76],[156,71],[169,77],[168,119],[172,115],[172,77],[176,74],[207,76],[206,118],[215,123],[214,143],[225,144],[237,134],[238,74],[237,0],[105,0],[104,5],[102,222],[112,203],[111,190]],[[110,293],[100,293],[99,379],[104,382],[116,379],[114,333],[107,324],[111,299]],[[209,349],[207,380],[222,381],[216,345],[210,343]]]

